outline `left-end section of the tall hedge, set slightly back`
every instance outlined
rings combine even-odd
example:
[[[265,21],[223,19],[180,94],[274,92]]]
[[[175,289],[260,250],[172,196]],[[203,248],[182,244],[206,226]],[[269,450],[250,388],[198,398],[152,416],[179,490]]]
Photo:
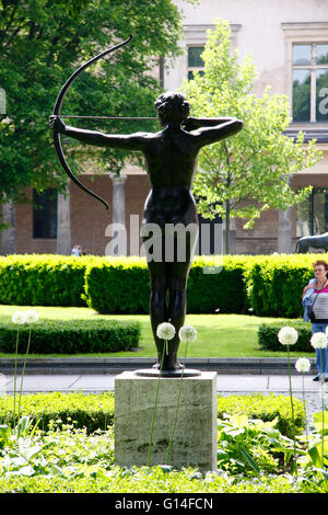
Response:
[[[93,256],[25,254],[0,258],[0,304],[85,306],[81,298]]]

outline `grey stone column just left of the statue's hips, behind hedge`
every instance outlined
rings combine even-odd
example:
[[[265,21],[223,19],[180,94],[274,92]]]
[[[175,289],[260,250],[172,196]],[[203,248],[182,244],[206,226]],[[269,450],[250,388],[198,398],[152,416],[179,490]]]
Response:
[[[106,247],[106,255],[127,255],[127,228],[126,228],[126,174],[110,175],[113,184],[112,199],[112,226],[106,230],[106,236],[115,237],[113,243]]]

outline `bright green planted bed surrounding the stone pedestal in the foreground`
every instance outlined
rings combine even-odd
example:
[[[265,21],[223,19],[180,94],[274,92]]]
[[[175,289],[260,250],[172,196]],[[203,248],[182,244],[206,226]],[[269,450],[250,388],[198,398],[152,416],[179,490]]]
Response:
[[[321,479],[315,481],[311,473],[311,459],[302,439],[305,413],[297,399],[294,400],[300,415],[297,451],[304,462],[304,473],[297,483],[291,473],[293,442],[285,434],[291,412],[284,396],[218,397],[218,473],[201,473],[196,468],[174,470],[169,465],[115,466],[114,402],[113,393],[26,394],[22,397],[20,420],[13,425],[13,398],[2,397],[0,492],[293,493],[323,490]],[[238,414],[241,410],[248,414]],[[277,410],[289,421],[281,428]],[[317,443],[318,433],[314,432],[311,438]]]

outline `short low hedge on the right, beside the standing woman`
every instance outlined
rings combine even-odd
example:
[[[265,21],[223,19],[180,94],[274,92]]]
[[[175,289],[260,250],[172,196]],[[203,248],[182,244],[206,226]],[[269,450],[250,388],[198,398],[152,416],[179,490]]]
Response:
[[[298,352],[311,352],[314,350],[309,344],[312,336],[311,325],[307,322],[289,321],[289,322],[274,322],[274,323],[262,323],[258,328],[258,344],[261,348],[267,351],[286,351],[285,345],[281,345],[278,341],[278,333],[281,328],[289,325],[296,329],[298,332],[297,342],[293,345],[293,351]]]

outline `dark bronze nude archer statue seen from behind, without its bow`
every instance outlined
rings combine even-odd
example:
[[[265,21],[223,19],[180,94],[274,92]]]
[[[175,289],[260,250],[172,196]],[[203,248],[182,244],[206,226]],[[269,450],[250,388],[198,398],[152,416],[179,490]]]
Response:
[[[164,341],[156,335],[157,325],[169,322],[175,327],[175,337],[168,342],[168,353],[163,356],[163,371],[179,368],[177,350],[178,331],[186,316],[186,289],[188,274],[197,242],[197,233],[187,233],[184,260],[165,261],[165,226],[190,224],[198,227],[196,203],[191,193],[197,156],[202,147],[211,145],[243,128],[236,118],[192,118],[189,103],[180,93],[169,92],[155,102],[163,130],[112,135],[66,126],[58,116],[50,117],[54,130],[89,145],[141,150],[147,165],[151,191],[144,204],[141,234],[152,224],[162,230],[162,259],[148,258],[150,272],[150,318],[157,350],[157,367],[161,363]],[[142,237],[144,243],[149,236]]]

